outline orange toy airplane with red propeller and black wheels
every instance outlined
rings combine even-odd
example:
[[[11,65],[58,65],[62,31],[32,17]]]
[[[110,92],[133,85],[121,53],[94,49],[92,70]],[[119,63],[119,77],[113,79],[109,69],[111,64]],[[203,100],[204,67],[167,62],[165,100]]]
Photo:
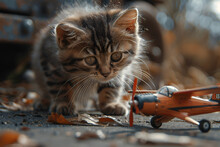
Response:
[[[136,91],[136,85],[137,79],[134,81],[133,91],[129,91],[132,93],[130,126],[133,126],[134,111],[136,114],[153,115],[153,128],[159,128],[162,123],[176,117],[198,125],[201,132],[208,132],[211,128],[208,120],[198,122],[190,116],[220,111],[220,86],[180,91],[173,86],[164,86],[158,91]],[[208,94],[212,94],[209,100],[196,97]]]

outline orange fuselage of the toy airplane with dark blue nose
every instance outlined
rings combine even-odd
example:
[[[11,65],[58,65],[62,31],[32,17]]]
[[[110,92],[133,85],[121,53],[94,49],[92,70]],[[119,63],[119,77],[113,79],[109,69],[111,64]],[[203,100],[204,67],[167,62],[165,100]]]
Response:
[[[175,99],[161,94],[146,95],[138,101],[138,107],[145,115],[169,116],[172,113],[185,113],[187,116],[220,111],[216,101],[198,97]]]

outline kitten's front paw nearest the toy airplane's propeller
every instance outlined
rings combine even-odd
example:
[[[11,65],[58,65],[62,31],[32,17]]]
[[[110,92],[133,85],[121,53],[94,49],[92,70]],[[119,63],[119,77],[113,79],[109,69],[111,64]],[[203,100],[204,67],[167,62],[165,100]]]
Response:
[[[128,109],[122,103],[114,102],[102,107],[101,112],[106,115],[126,115],[128,113]]]

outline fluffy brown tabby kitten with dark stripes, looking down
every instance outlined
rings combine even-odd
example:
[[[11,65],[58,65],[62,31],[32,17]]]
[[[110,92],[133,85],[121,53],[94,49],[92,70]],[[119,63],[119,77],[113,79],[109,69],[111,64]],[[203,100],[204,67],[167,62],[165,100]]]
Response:
[[[77,6],[60,12],[41,32],[32,58],[50,111],[75,113],[97,97],[102,113],[126,114],[121,97],[141,54],[138,27],[136,8]]]

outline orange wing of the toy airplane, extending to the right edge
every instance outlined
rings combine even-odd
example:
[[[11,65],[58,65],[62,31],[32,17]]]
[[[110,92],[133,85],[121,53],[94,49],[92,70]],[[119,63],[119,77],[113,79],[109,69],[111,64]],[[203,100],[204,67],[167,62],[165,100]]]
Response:
[[[210,86],[204,88],[195,88],[188,90],[180,90],[173,92],[173,97],[175,98],[191,98],[191,96],[203,96],[212,93],[220,94],[220,86]]]

